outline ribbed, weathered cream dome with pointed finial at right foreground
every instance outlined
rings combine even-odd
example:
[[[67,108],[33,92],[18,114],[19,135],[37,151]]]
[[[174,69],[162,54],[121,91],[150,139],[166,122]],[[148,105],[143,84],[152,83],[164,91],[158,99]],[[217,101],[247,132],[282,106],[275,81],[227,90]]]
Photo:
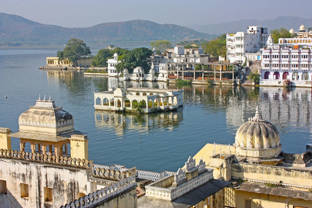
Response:
[[[236,153],[258,159],[277,156],[281,151],[281,144],[276,127],[260,117],[258,106],[256,115],[248,120],[236,132]]]

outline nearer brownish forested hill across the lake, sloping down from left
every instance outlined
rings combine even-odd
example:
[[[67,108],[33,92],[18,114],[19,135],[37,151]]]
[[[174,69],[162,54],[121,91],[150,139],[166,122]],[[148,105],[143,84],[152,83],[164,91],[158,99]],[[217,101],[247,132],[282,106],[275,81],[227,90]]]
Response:
[[[181,40],[185,38],[212,39],[206,33],[173,24],[158,24],[146,20],[110,22],[85,28],[67,28],[46,25],[17,15],[0,13],[0,44],[66,43],[71,38],[85,42],[101,41],[154,41],[159,39]]]

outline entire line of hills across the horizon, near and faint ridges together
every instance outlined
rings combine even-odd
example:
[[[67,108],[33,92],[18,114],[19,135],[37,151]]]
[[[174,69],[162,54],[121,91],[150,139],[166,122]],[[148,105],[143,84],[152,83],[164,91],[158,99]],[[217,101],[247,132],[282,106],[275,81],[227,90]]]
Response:
[[[298,31],[302,24],[306,28],[312,27],[312,18],[280,16],[274,20],[263,21],[243,19],[207,26],[189,25],[189,28],[174,24],[158,24],[147,20],[131,20],[102,23],[85,28],[68,28],[41,24],[21,16],[0,13],[0,45],[67,43],[71,38],[79,38],[85,42],[154,40],[179,42],[186,38],[209,40],[227,32],[246,32],[246,28],[253,25],[267,27],[270,32],[280,27],[294,28]]]

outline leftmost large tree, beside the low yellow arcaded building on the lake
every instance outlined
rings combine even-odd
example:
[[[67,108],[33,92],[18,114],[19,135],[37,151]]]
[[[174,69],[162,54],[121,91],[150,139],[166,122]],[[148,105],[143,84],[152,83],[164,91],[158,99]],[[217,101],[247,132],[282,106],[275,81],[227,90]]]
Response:
[[[56,53],[59,60],[64,60],[68,58],[70,62],[77,64],[77,60],[82,57],[87,57],[91,55],[90,47],[88,47],[83,40],[71,38],[63,51],[58,51]]]

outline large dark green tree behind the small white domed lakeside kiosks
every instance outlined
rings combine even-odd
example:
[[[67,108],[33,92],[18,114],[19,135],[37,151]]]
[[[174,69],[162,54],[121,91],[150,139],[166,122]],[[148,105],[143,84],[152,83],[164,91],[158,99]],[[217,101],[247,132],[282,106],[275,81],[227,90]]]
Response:
[[[131,73],[135,67],[142,67],[144,72],[149,72],[151,65],[149,57],[153,54],[152,50],[148,48],[141,47],[135,48],[128,53],[122,55],[122,59],[119,58],[121,62],[115,65],[115,68],[118,72],[122,71],[124,68],[127,68]]]

